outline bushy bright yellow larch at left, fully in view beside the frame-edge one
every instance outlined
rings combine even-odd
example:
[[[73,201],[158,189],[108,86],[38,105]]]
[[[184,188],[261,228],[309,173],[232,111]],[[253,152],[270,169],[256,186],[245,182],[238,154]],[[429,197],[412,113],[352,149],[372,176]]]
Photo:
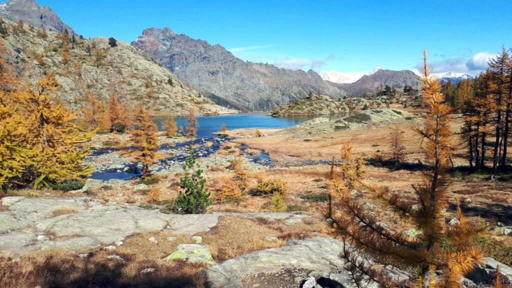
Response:
[[[84,143],[91,139],[94,131],[80,129],[73,122],[76,116],[59,99],[52,100],[58,88],[55,77],[47,72],[37,82],[36,89],[27,86],[15,92],[29,122],[27,143],[34,153],[33,163],[26,169],[23,180],[35,188],[50,182],[77,180],[92,172],[83,157],[89,154],[89,147]]]

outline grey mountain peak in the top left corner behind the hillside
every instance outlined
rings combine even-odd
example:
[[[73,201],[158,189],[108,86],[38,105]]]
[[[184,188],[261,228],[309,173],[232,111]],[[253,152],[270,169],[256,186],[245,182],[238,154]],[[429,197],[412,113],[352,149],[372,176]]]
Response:
[[[61,33],[67,29],[70,34],[76,34],[50,7],[39,6],[34,0],[9,0],[7,3],[0,3],[0,16],[13,22],[23,20],[25,24],[36,28]]]

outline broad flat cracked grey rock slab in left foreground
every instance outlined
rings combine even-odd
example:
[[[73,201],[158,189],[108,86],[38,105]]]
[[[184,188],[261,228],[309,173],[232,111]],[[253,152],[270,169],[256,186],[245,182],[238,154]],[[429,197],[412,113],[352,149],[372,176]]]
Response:
[[[194,235],[209,231],[222,215],[284,219],[285,224],[290,225],[309,217],[292,213],[163,214],[88,197],[4,197],[2,205],[8,207],[0,212],[0,252],[6,254],[53,248],[95,248],[148,231]],[[66,211],[64,209],[71,214],[54,214],[54,211]]]

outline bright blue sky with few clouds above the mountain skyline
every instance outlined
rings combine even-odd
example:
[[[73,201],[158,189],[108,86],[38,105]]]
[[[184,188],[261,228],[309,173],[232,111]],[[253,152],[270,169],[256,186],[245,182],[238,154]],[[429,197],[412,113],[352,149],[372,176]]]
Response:
[[[86,37],[130,43],[149,27],[221,44],[284,68],[413,69],[428,49],[434,72],[474,74],[512,47],[512,1],[36,0]]]

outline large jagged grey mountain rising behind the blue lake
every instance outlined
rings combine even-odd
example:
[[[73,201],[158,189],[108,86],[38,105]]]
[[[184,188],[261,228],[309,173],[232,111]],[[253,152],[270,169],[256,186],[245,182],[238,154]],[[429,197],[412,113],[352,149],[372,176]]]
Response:
[[[132,45],[144,50],[180,77],[239,108],[269,110],[320,91],[333,98],[339,91],[310,70],[287,70],[243,61],[220,45],[176,34],[169,28],[150,28]]]

